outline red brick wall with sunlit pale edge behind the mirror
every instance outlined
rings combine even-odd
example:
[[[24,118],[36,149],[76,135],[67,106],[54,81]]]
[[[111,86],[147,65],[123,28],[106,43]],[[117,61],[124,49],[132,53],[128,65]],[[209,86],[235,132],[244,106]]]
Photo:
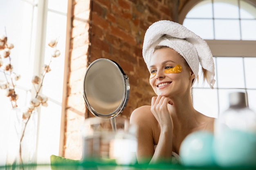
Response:
[[[129,118],[132,110],[150,104],[155,94],[148,83],[149,73],[141,54],[144,34],[157,20],[174,20],[175,4],[177,0],[73,0],[62,156],[81,159],[79,131],[84,118],[93,116],[87,114],[83,99],[83,77],[88,63],[108,58],[128,75],[130,97],[122,116]]]

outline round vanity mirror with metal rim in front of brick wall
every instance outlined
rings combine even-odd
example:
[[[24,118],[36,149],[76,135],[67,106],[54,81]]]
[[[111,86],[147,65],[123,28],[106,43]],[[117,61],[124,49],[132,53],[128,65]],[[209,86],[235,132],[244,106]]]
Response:
[[[83,97],[96,117],[116,117],[124,110],[129,91],[128,76],[116,62],[101,58],[88,66],[83,80]]]

